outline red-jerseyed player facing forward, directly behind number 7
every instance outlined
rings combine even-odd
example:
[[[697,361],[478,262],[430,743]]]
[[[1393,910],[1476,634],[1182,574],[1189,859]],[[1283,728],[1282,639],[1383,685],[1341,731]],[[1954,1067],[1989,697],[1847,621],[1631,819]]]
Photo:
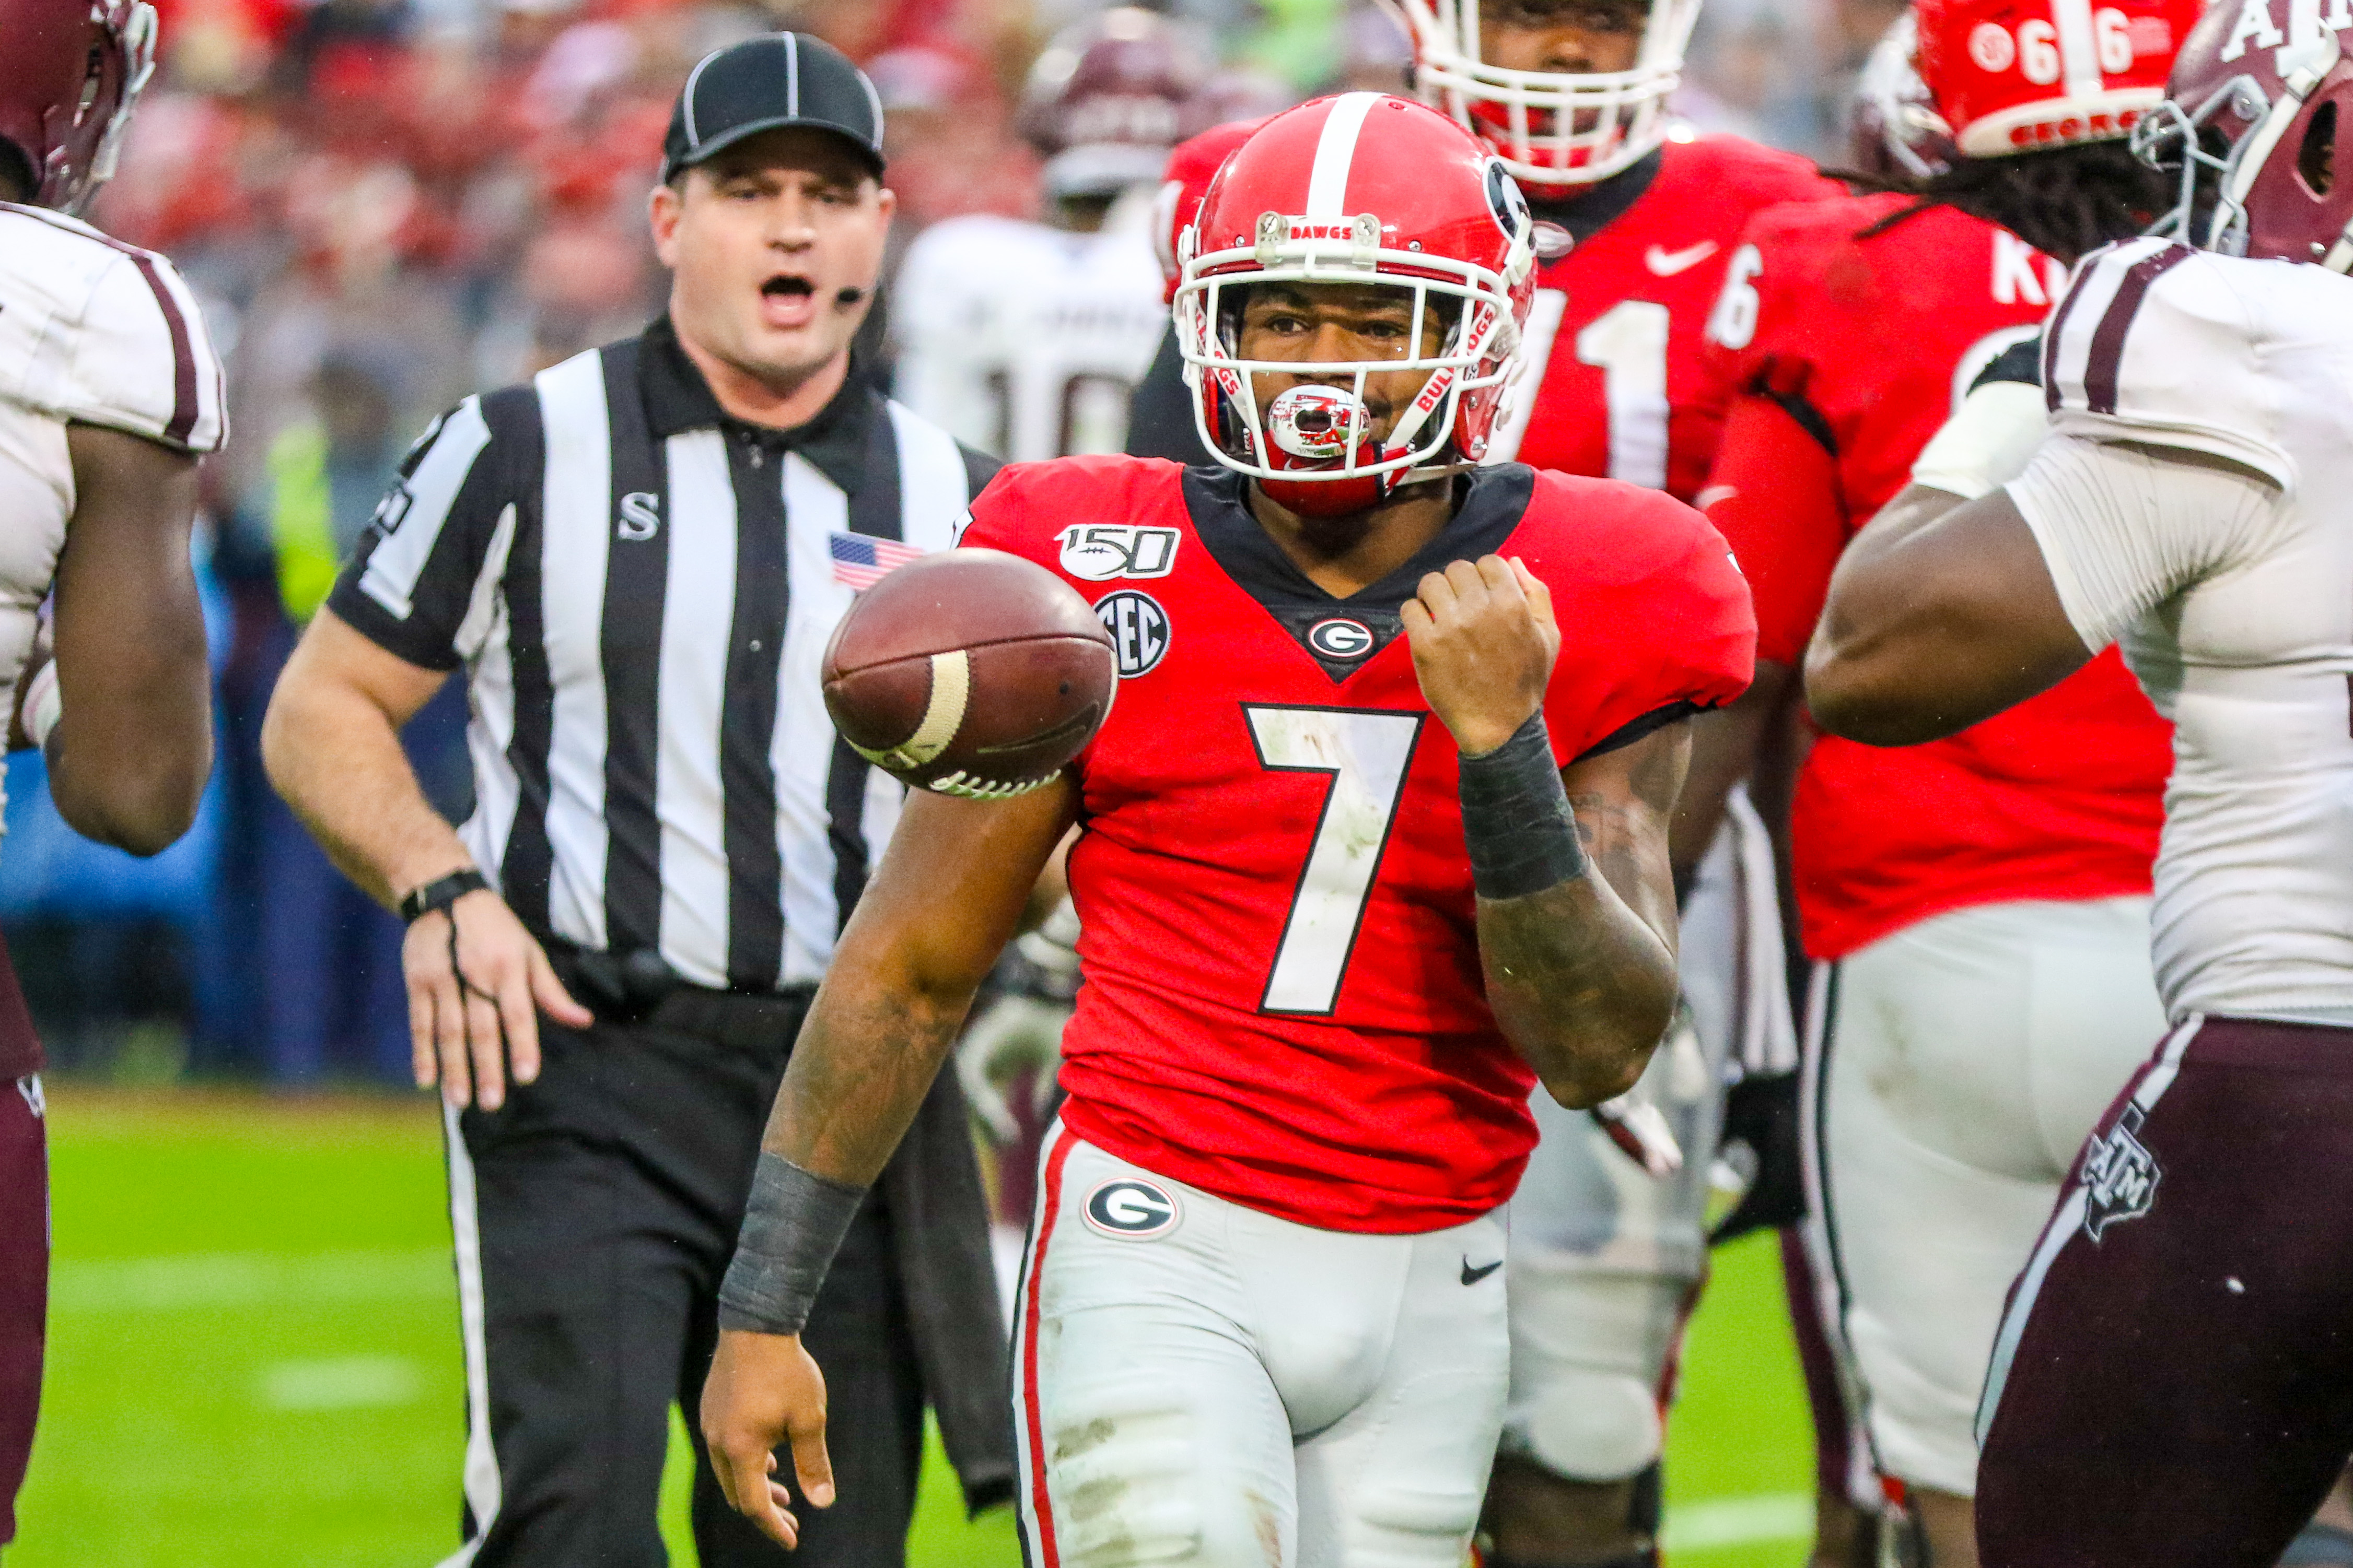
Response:
[[[1694,498],[1725,393],[1704,362],[1701,329],[1739,230],[1769,205],[1840,188],[1800,158],[1673,127],[1666,99],[1697,0],[1400,0],[1398,9],[1424,99],[1504,160],[1537,216],[1525,390],[1487,461]],[[1191,221],[1249,129],[1219,127],[1176,148],[1162,233]],[[1160,414],[1179,407],[1169,360],[1162,350],[1136,395],[1129,451],[1198,461],[1186,456],[1198,454],[1191,433]],[[1744,1100],[1767,1121],[1772,1074],[1793,1058],[1772,879],[1753,875],[1767,858],[1765,830],[1746,804],[1737,811],[1713,849],[1711,835],[1685,835],[1680,823],[1675,832],[1697,1027],[1675,1030],[1642,1095],[1685,1145],[1682,1171],[1626,1180],[1612,1135],[1537,1105],[1544,1147],[1513,1204],[1513,1392],[1487,1521],[1497,1563],[1654,1556],[1664,1408],[1706,1276],[1727,1058],[1758,1074]],[[1741,1222],[1765,1213],[1760,1204]]]

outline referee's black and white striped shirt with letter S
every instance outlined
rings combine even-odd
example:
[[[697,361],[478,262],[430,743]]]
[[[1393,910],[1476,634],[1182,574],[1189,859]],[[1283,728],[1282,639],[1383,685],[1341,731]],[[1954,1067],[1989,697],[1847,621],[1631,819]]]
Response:
[[[727,418],[664,320],[445,414],[329,607],[466,665],[461,835],[532,931],[805,985],[899,818],[819,696],[835,536],[946,550],[993,470],[859,376],[798,430]]]

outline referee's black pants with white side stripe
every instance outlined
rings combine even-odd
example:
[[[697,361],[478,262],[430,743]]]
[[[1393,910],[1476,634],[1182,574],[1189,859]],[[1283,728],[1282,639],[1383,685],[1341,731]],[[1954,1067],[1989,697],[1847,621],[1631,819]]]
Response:
[[[647,1023],[539,1020],[544,1067],[456,1117],[449,1213],[466,1331],[473,1568],[659,1568],[668,1410],[696,1434],[776,1079],[807,997],[680,992]],[[826,1368],[840,1500],[781,1552],[727,1507],[694,1436],[704,1568],[896,1568],[922,1460],[922,1382],[868,1197],[805,1333]],[[791,1455],[781,1458],[791,1476]],[[798,1493],[798,1486],[793,1488]]]

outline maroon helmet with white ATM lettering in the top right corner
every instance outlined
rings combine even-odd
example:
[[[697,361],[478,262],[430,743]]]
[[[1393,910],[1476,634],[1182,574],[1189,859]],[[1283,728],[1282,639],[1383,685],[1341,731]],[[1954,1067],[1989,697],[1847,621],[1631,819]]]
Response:
[[[2353,270],[2353,59],[2315,7],[2247,0],[2207,12],[2132,146],[2181,167],[2181,202],[2158,233]]]

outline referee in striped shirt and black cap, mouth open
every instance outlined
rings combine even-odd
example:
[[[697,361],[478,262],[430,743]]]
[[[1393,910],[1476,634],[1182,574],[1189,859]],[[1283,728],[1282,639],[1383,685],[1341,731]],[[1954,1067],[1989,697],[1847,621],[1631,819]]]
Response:
[[[696,63],[652,195],[668,313],[445,414],[271,703],[278,790],[409,922],[466,1340],[452,1563],[666,1561],[668,1408],[694,1432],[760,1128],[899,816],[819,658],[856,585],[951,545],[993,463],[852,367],[880,146],[873,87],[809,35]],[[452,832],[398,731],[459,665],[478,806]],[[786,1556],[696,1462],[704,1568],[901,1563],[925,1403],[967,1505],[1012,1493],[986,1208],[941,1088],[809,1321],[854,1434],[842,1502]]]

